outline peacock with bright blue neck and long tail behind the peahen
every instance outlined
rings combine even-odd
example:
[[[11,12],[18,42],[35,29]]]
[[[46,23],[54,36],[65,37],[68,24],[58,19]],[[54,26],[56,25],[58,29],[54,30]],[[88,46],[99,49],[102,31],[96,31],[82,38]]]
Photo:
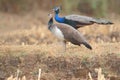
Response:
[[[54,19],[59,23],[71,25],[75,29],[78,29],[87,25],[92,25],[94,23],[103,24],[103,25],[113,24],[111,21],[108,21],[108,20],[97,19],[97,18],[92,18],[88,16],[76,15],[76,14],[59,17],[60,9],[61,9],[60,6],[53,8],[53,11],[55,13]]]

